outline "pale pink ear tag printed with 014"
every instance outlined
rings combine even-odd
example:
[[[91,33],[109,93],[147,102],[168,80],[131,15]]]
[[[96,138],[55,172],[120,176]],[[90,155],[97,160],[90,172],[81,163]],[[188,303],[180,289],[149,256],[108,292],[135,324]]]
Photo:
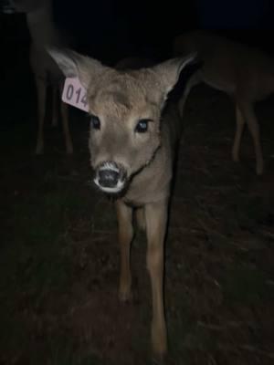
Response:
[[[87,90],[82,87],[79,78],[66,78],[62,100],[80,110],[89,110]]]

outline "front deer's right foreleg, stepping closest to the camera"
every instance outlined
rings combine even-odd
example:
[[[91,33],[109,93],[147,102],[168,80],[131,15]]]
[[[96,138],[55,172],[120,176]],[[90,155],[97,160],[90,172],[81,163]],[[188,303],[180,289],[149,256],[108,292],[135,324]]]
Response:
[[[167,349],[163,309],[163,244],[167,221],[167,202],[145,205],[147,232],[147,268],[153,294],[152,346],[158,360],[163,360]]]

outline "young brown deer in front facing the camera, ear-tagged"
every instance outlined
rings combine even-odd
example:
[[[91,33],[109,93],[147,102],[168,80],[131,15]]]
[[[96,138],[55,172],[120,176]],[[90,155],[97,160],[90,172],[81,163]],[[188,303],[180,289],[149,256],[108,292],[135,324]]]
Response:
[[[134,222],[145,229],[146,264],[151,280],[153,357],[163,360],[167,333],[163,304],[163,248],[181,130],[177,106],[167,101],[188,55],[150,68],[115,69],[68,49],[49,54],[67,78],[79,78],[90,114],[90,167],[93,182],[116,207],[121,252],[119,298],[132,297],[131,245]]]

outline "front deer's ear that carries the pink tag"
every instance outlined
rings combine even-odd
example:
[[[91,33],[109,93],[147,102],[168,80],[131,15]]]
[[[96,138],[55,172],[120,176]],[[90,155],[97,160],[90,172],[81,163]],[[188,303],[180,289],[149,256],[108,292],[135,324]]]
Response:
[[[88,89],[92,78],[97,78],[107,69],[96,59],[82,56],[70,49],[47,48],[47,52],[57,62],[66,78],[79,78],[85,89]]]

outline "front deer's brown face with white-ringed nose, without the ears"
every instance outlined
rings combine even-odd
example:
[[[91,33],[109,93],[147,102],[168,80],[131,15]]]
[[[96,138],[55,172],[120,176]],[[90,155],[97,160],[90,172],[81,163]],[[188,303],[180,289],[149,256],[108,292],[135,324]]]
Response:
[[[140,76],[113,72],[89,97],[90,162],[106,193],[121,193],[161,145],[161,105]]]

